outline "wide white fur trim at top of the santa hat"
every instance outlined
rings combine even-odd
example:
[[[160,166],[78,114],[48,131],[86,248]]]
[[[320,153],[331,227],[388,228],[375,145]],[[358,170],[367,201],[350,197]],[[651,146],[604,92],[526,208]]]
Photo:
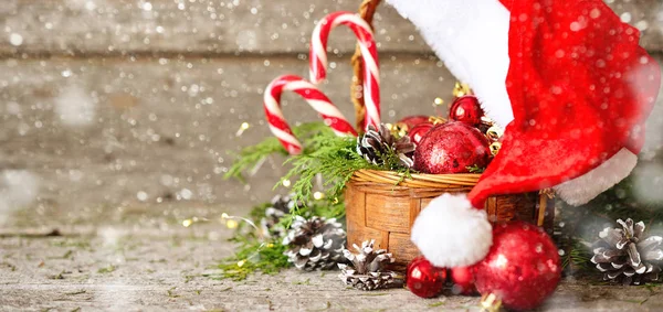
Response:
[[[497,0],[387,0],[409,19],[486,115],[503,128],[514,119],[506,92],[509,12]]]

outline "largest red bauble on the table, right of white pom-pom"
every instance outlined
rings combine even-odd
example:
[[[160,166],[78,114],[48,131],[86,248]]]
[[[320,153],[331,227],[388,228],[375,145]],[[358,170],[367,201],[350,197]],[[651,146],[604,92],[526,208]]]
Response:
[[[480,293],[493,293],[515,310],[541,304],[561,278],[557,246],[541,228],[524,222],[496,225],[491,251],[472,269]]]

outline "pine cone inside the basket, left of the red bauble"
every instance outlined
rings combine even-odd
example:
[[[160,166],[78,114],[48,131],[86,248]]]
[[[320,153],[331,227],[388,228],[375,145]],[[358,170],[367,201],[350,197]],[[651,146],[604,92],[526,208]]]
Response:
[[[414,143],[410,142],[410,137],[403,136],[396,139],[383,123],[380,123],[380,129],[368,126],[366,133],[357,138],[357,153],[377,165],[385,164],[385,157],[396,153],[400,164],[412,168],[414,148]]]

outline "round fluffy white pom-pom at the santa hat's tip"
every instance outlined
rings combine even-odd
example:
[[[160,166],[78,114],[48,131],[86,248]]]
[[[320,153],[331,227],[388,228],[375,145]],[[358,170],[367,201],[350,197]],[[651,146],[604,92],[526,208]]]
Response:
[[[466,194],[443,194],[421,211],[412,225],[412,241],[436,267],[454,268],[482,260],[493,245],[486,212],[476,209]]]

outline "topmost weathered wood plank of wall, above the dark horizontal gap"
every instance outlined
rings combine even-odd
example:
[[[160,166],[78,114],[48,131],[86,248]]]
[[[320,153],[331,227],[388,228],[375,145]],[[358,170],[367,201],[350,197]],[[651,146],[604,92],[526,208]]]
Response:
[[[643,45],[663,51],[659,0],[609,0],[624,21],[643,30]],[[328,12],[356,11],[359,0],[171,1],[6,0],[0,6],[0,54],[235,54],[307,53],[311,32]],[[381,52],[428,53],[415,29],[387,4],[376,17]],[[347,30],[330,47],[352,51]]]

